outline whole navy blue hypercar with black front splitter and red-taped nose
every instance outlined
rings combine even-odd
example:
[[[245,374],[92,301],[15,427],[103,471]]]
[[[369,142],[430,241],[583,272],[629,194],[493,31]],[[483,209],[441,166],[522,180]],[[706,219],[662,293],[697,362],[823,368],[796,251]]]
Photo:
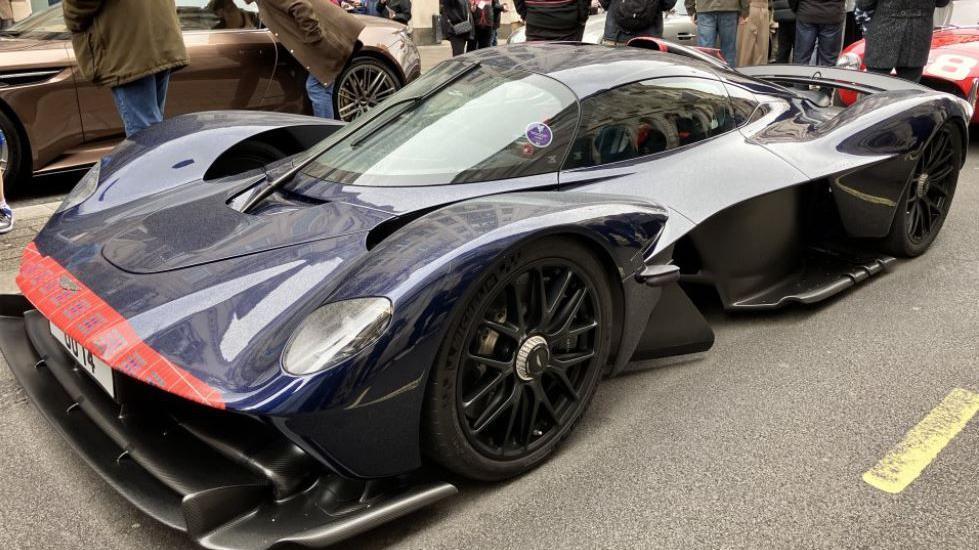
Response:
[[[452,494],[438,472],[543,462],[603,376],[711,346],[697,289],[817,302],[935,239],[969,103],[667,49],[482,50],[349,125],[151,128],[24,251],[0,348],[150,516],[317,546]]]

